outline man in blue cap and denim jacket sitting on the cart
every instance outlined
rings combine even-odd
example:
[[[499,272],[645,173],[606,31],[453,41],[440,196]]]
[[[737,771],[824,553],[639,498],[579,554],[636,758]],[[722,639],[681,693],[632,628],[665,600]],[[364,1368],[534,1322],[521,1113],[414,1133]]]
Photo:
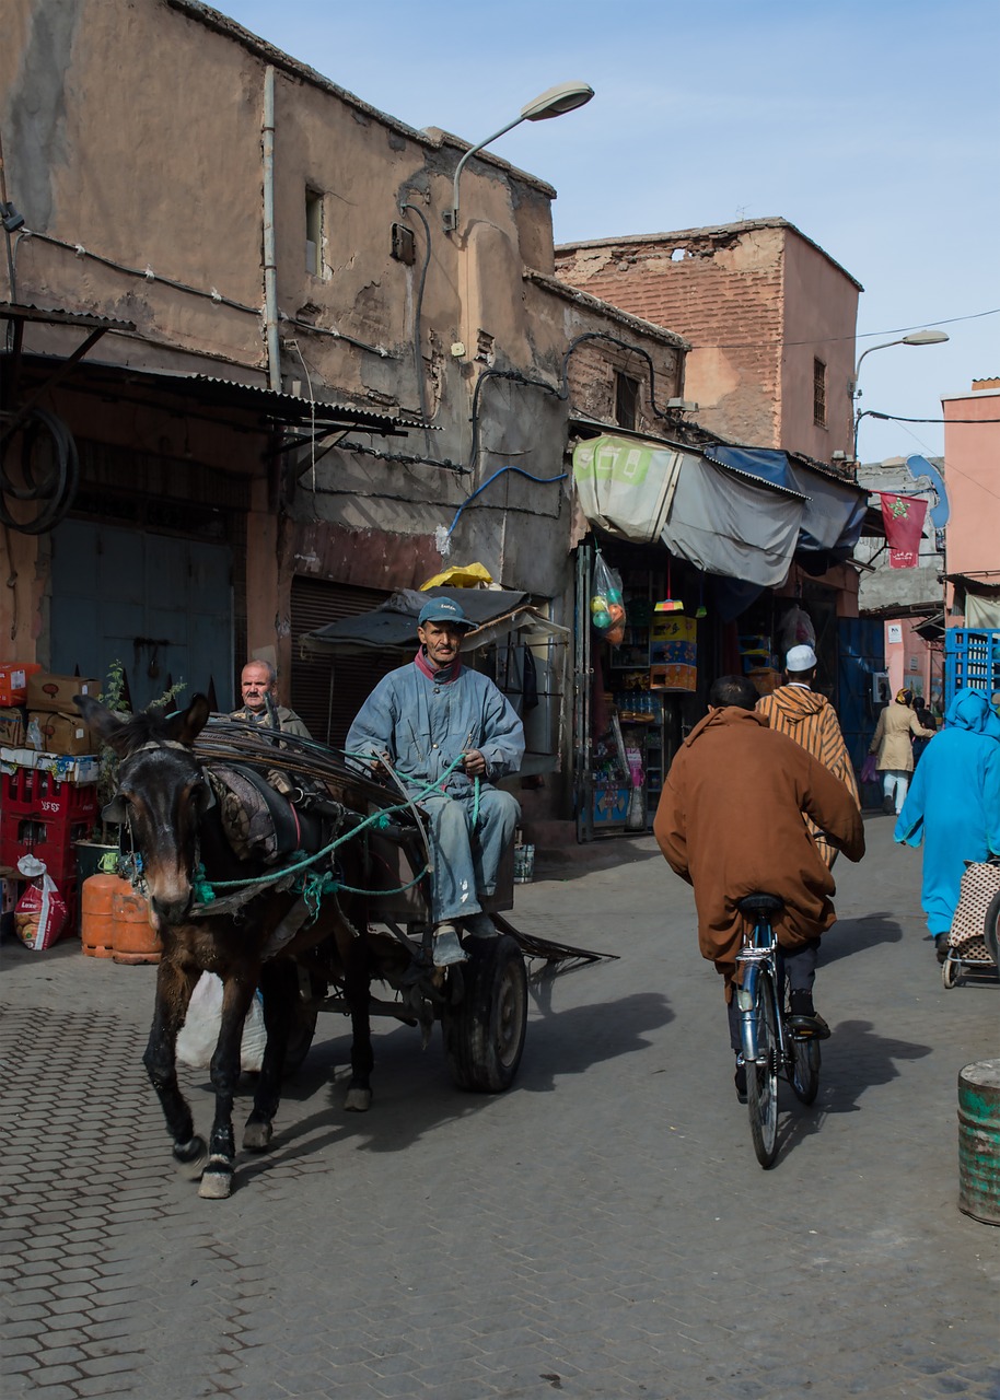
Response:
[[[352,759],[385,760],[429,819],[438,967],[465,960],[459,930],[494,931],[479,900],[496,890],[520,815],[493,783],[521,767],[524,728],[493,682],[462,665],[473,629],[454,599],[426,603],[416,657],[378,682],[346,742]]]

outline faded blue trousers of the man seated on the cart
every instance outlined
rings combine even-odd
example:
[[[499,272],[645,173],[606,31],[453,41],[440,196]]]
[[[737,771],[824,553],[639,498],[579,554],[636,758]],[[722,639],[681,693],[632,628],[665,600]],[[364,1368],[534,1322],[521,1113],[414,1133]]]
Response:
[[[472,794],[455,798],[433,792],[422,797],[419,806],[430,818],[434,923],[480,913],[479,896],[496,892],[500,858],[521,815],[517,798],[499,788],[482,787],[475,832]]]

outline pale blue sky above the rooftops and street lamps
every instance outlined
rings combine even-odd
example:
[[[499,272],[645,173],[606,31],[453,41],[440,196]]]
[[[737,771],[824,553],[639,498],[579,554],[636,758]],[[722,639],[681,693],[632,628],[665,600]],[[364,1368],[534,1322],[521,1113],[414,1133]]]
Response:
[[[469,141],[569,78],[584,108],[492,150],[559,192],[556,242],[780,216],[864,293],[861,409],[941,419],[1000,377],[997,0],[223,0],[254,34],[409,126]],[[999,414],[1000,416],[1000,414]],[[940,421],[863,419],[873,462]]]

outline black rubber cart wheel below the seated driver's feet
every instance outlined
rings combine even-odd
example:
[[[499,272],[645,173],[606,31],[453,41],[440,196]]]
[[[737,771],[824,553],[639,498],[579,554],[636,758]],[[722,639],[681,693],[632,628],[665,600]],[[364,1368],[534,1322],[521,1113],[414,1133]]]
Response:
[[[510,934],[469,938],[469,960],[451,969],[462,997],[441,1009],[448,1067],[459,1089],[503,1093],[514,1082],[528,1025],[528,974]]]

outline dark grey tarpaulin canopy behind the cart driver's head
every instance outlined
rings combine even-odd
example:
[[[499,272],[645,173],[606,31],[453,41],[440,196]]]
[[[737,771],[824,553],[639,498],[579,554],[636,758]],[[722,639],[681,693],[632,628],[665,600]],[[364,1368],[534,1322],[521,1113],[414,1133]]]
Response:
[[[462,651],[476,651],[508,631],[522,633],[525,641],[532,641],[532,634],[546,641],[569,636],[566,627],[549,622],[532,606],[529,594],[500,588],[429,588],[426,592],[401,588],[371,612],[338,617],[305,633],[298,644],[305,655],[398,651],[401,658],[409,657],[416,647],[416,620],[429,598],[454,598],[476,623],[476,630],[462,638]]]

